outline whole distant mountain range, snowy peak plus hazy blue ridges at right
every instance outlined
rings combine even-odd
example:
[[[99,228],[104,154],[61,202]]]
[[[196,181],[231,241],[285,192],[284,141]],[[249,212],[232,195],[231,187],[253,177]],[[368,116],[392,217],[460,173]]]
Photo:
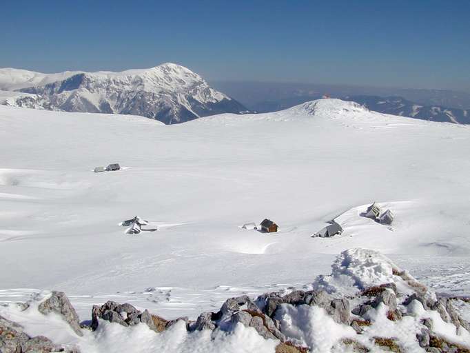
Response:
[[[252,91],[241,90],[243,87],[243,83],[226,86],[229,92],[233,92],[231,95],[241,94],[240,101],[245,104],[212,88],[195,72],[174,63],[123,72],[66,71],[42,74],[12,68],[0,69],[0,104],[25,108],[132,114],[174,124],[221,113],[283,110],[319,99],[323,96],[322,92],[332,92],[331,97],[355,101],[376,112],[428,121],[470,124],[470,109],[423,104],[420,99],[417,103],[397,95],[349,94],[358,91],[324,85],[303,85],[294,89],[294,85],[288,84],[270,88],[266,83],[248,86]],[[431,93],[429,97],[435,101],[438,96],[435,96],[434,91]],[[269,97],[269,100],[256,101],[256,97]]]

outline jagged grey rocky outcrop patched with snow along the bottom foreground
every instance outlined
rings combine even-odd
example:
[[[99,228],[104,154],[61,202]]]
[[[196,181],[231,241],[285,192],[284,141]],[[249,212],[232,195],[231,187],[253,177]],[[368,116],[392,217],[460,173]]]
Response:
[[[318,343],[312,344],[314,339],[311,338],[316,335],[316,330],[320,330],[320,339],[325,338],[325,332],[344,332],[336,341],[327,343],[332,345],[334,352],[405,353],[411,341],[413,351],[421,347],[425,352],[470,353],[470,346],[465,343],[469,341],[470,325],[459,312],[462,305],[468,305],[467,301],[436,296],[410,274],[377,255],[374,259],[368,252],[349,254],[356,258],[348,258],[347,261],[341,259],[335,265],[334,269],[338,270],[340,276],[332,274],[329,279],[322,277],[321,281],[312,285],[312,288],[316,288],[314,290],[290,288],[290,292],[269,292],[256,299],[246,295],[229,298],[220,310],[203,312],[196,321],[185,317],[167,321],[148,310],[137,310],[129,303],[108,301],[101,306],[93,306],[90,329],[96,330],[100,321],[109,321],[123,327],[144,324],[160,333],[180,323],[178,330],[185,327],[188,333],[196,335],[204,330],[205,335],[210,334],[215,338],[221,332],[231,334],[244,326],[252,332],[256,331],[263,339],[274,341],[277,353],[318,350],[315,347]],[[367,261],[357,261],[364,255]],[[347,268],[348,264],[362,267]],[[367,277],[360,277],[362,273],[367,273]],[[355,281],[345,279],[346,274],[354,276]],[[345,284],[349,287],[345,288]],[[34,306],[30,305],[26,310],[31,310],[31,307]],[[43,314],[57,313],[74,330],[81,332],[78,316],[65,294],[52,292],[48,299],[40,303],[39,311]],[[398,325],[398,329],[400,326],[410,328],[398,330],[396,336],[382,335],[380,330],[384,327],[384,320],[390,321],[387,323],[390,327]],[[402,320],[406,320],[406,323]],[[374,327],[376,324],[378,326]],[[442,331],[444,326],[445,331]],[[452,327],[455,327],[455,333],[449,339],[449,335],[452,336],[452,330],[449,329]],[[402,340],[400,335],[407,337]],[[49,339],[30,337],[21,326],[0,318],[1,353],[42,353],[61,349]]]

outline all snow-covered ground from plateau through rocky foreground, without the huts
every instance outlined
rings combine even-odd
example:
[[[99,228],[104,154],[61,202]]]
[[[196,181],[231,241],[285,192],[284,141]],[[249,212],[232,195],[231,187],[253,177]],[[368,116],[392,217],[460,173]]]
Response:
[[[0,328],[82,353],[469,352],[469,147],[337,99],[177,125],[0,105]]]

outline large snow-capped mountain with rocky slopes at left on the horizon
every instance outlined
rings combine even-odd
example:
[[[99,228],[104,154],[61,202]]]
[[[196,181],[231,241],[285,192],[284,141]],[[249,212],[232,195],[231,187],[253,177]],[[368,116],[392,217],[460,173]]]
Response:
[[[198,74],[174,63],[123,72],[41,74],[1,69],[0,88],[11,94],[0,103],[63,110],[141,115],[166,124],[247,109],[218,92]],[[8,94],[4,94],[8,96]]]

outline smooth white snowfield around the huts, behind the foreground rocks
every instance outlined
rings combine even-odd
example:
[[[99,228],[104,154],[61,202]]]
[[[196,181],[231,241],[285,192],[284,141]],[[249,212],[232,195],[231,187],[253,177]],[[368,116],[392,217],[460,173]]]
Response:
[[[336,99],[180,125],[0,106],[0,303],[61,290],[83,320],[108,300],[194,319],[356,247],[469,295],[469,129]],[[391,227],[360,216],[373,201]],[[136,215],[159,230],[125,234]],[[310,237],[334,217],[343,234]],[[240,228],[265,218],[280,232]]]

